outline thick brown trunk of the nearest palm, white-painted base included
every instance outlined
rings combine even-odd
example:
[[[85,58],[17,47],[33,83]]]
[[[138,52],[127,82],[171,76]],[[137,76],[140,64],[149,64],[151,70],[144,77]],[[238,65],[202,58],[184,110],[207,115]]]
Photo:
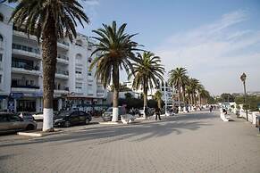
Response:
[[[53,131],[53,99],[55,88],[55,69],[57,57],[57,36],[55,20],[50,14],[42,36],[43,58],[43,131]]]

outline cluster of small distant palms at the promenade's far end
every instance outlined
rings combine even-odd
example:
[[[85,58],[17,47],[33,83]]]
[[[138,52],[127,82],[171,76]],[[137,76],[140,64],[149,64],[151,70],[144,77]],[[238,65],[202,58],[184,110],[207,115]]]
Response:
[[[188,70],[185,68],[178,67],[170,70],[169,76],[169,84],[178,91],[179,110],[181,98],[183,107],[185,108],[187,103],[189,105],[201,105],[202,101],[206,103],[210,97],[209,92],[205,90],[205,86],[203,86],[197,78],[189,78]]]

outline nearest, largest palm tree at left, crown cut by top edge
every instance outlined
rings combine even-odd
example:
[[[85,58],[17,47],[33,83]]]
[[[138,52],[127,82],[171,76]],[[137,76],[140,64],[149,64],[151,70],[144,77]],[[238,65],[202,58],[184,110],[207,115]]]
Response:
[[[53,98],[55,86],[55,68],[57,57],[57,40],[77,36],[77,21],[83,26],[88,17],[77,0],[8,0],[19,3],[15,7],[10,21],[18,28],[24,27],[28,34],[35,33],[38,41],[42,40],[43,59],[43,130],[53,130]],[[84,27],[84,26],[83,26]]]

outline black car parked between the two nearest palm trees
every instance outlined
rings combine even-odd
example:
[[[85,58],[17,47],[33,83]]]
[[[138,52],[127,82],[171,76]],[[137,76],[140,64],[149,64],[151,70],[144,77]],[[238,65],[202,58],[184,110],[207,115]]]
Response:
[[[60,111],[55,116],[55,127],[69,128],[78,124],[89,124],[91,116],[85,111]]]

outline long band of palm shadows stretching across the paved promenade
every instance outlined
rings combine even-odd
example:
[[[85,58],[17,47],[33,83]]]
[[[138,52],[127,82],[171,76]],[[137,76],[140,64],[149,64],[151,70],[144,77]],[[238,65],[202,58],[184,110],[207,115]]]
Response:
[[[167,136],[171,133],[181,135],[185,130],[197,130],[203,126],[211,126],[206,119],[215,119],[215,113],[207,112],[182,114],[175,117],[164,118],[161,121],[145,122],[134,125],[106,126],[98,128],[86,128],[69,134],[46,136],[35,138],[30,141],[23,141],[13,144],[0,144],[0,146],[24,145],[24,144],[44,144],[60,142],[59,144],[70,144],[93,139],[103,139],[94,141],[94,144],[105,144],[122,139],[130,139],[130,142],[140,142],[151,137]],[[204,119],[204,120],[202,120]]]

